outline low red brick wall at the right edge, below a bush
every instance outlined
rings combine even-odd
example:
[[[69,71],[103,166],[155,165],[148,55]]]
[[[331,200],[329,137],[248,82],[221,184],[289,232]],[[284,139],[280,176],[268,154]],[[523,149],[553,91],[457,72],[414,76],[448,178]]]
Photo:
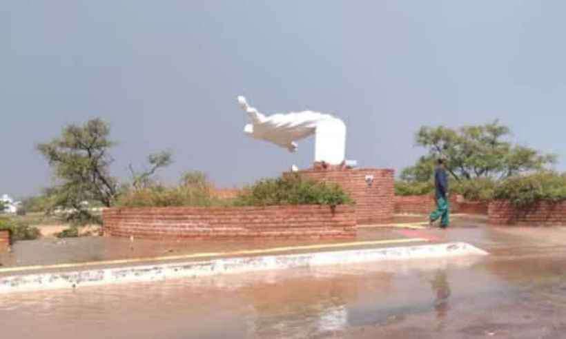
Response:
[[[488,215],[492,225],[566,225],[566,201],[541,201],[525,208],[517,208],[509,201],[492,201]]]

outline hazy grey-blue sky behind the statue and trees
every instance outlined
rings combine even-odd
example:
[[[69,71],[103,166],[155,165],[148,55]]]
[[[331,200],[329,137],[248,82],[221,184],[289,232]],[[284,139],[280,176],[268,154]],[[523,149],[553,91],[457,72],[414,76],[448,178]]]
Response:
[[[19,1],[0,4],[0,193],[50,184],[35,143],[66,123],[112,124],[113,172],[170,149],[175,181],[250,183],[297,164],[242,133],[260,110],[333,113],[347,158],[413,163],[421,125],[500,119],[565,168],[566,1]]]

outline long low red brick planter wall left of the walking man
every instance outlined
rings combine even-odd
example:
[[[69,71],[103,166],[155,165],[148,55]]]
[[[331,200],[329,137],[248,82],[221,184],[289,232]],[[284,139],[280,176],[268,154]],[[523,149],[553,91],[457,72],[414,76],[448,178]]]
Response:
[[[105,209],[107,236],[136,238],[353,238],[352,206]]]

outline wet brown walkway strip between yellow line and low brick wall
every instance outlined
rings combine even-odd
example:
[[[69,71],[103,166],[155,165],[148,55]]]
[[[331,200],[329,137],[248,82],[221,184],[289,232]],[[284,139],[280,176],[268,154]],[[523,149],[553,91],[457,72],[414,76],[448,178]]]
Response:
[[[394,223],[422,221],[419,216],[400,216]],[[202,253],[229,253],[243,250],[301,247],[309,245],[332,245],[375,240],[396,240],[411,237],[398,229],[377,225],[358,230],[353,239],[337,240],[143,240],[114,237],[40,238],[19,241],[12,246],[11,253],[0,252],[0,274],[2,267],[26,267],[34,265],[59,265],[69,263],[92,263],[108,260],[139,258],[163,258]],[[414,237],[413,237],[414,238]],[[433,240],[433,239],[431,239]],[[358,246],[363,247],[363,246]],[[312,251],[312,249],[309,249]],[[295,250],[287,252],[295,253]],[[285,253],[282,251],[281,253]]]

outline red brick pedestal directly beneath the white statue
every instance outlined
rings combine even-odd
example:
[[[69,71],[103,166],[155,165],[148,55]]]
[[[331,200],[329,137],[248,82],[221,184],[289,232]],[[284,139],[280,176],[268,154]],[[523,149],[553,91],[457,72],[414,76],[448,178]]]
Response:
[[[355,201],[355,213],[359,224],[390,223],[393,220],[393,170],[377,169],[340,169],[327,170],[317,167],[315,170],[300,171],[300,174],[317,181],[337,183],[342,186]],[[368,186],[366,176],[373,176],[373,183]]]

